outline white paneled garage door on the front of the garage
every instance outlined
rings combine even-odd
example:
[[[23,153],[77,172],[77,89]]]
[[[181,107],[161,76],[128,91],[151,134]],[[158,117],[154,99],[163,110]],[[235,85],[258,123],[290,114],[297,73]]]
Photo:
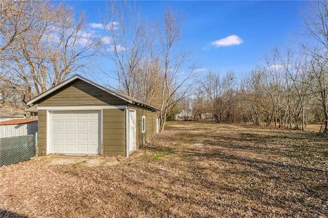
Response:
[[[100,123],[100,111],[50,112],[51,153],[100,154]]]

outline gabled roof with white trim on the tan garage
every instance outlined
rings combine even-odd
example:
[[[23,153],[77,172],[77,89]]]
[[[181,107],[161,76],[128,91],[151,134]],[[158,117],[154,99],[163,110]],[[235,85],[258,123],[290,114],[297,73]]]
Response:
[[[86,78],[84,78],[84,77],[82,77],[80,75],[77,75],[77,74],[74,75],[74,76],[72,76],[71,78],[65,80],[64,82],[62,82],[62,83],[54,86],[53,88],[47,90],[46,92],[44,92],[44,93],[36,96],[35,98],[32,98],[31,100],[29,100],[27,102],[27,105],[30,105],[30,106],[33,105],[35,102],[38,102],[39,100],[41,100],[43,98],[46,98],[47,96],[53,94],[54,92],[60,90],[64,86],[66,86],[66,85],[68,85],[68,84],[70,84],[70,83],[72,83],[72,82],[74,82],[74,81],[76,81],[78,79],[80,79],[82,81],[85,81],[85,82],[87,82],[87,83],[89,83],[89,84],[97,87],[98,89],[101,89],[101,90],[103,90],[103,91],[105,91],[105,92],[107,92],[107,93],[109,93],[111,95],[114,95],[114,96],[116,96],[116,97],[118,97],[118,98],[120,98],[120,99],[122,99],[122,100],[124,100],[124,101],[126,101],[128,103],[130,103],[130,104],[135,104],[135,105],[139,105],[139,106],[142,106],[142,107],[150,108],[151,110],[154,110],[154,111],[158,111],[158,109],[155,108],[155,107],[152,107],[150,105],[147,105],[147,104],[145,104],[145,103],[143,103],[143,102],[141,102],[141,101],[139,101],[139,100],[137,100],[135,98],[132,98],[130,96],[127,96],[127,95],[124,95],[124,94],[115,92],[113,90],[107,89],[104,86],[101,86],[101,85],[99,85],[99,84],[97,84],[95,82],[92,82],[91,80],[86,79]]]

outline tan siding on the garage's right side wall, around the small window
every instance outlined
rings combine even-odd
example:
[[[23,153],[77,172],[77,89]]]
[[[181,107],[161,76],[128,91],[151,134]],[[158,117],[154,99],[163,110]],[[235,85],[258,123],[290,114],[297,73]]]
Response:
[[[140,145],[146,144],[153,136],[156,135],[156,112],[152,112],[150,109],[128,104],[129,109],[136,110],[136,146],[139,149]],[[146,132],[141,133],[141,117],[146,116]]]

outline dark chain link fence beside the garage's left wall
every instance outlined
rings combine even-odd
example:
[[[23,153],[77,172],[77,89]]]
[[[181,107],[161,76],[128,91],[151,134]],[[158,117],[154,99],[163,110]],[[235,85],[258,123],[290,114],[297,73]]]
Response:
[[[37,135],[0,139],[0,167],[28,161],[36,156]]]

